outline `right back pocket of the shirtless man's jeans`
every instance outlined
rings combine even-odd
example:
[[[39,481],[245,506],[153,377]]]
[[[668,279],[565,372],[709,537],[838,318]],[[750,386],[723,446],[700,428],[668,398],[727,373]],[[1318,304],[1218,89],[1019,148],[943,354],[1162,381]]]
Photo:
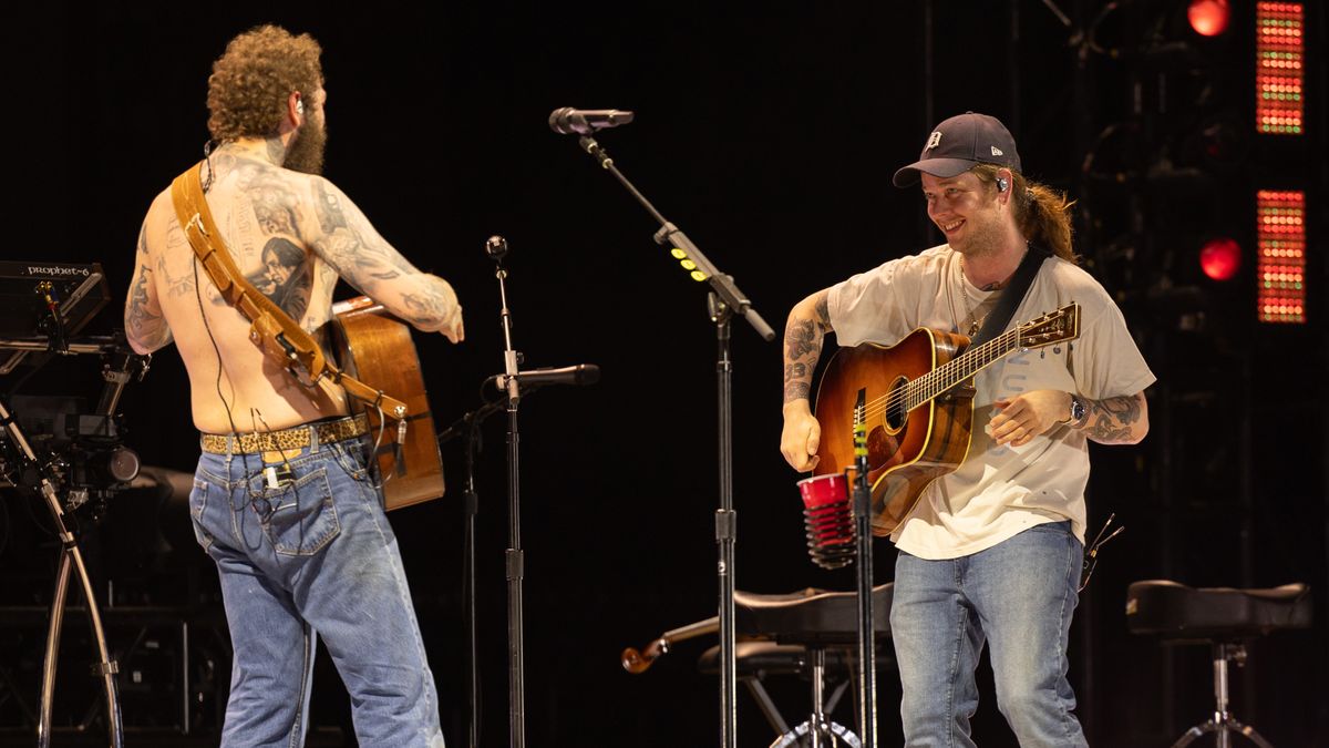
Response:
[[[259,496],[271,507],[262,524],[278,554],[310,556],[342,532],[324,467],[280,488],[264,488]]]

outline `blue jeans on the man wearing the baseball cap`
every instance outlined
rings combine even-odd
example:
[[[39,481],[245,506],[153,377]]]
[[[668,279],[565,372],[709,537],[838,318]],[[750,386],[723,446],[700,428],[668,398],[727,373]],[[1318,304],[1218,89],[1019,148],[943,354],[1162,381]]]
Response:
[[[1037,524],[977,554],[896,559],[890,632],[905,745],[971,747],[974,669],[991,643],[997,707],[1023,747],[1087,745],[1071,713],[1066,640],[1083,546],[1070,522]]]

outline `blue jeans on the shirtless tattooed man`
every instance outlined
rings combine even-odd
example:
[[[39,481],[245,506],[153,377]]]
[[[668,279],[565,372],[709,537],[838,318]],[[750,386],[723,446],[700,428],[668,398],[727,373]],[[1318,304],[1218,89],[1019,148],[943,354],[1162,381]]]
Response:
[[[202,454],[190,511],[235,651],[223,747],[304,743],[322,636],[364,747],[443,747],[397,542],[356,439]]]

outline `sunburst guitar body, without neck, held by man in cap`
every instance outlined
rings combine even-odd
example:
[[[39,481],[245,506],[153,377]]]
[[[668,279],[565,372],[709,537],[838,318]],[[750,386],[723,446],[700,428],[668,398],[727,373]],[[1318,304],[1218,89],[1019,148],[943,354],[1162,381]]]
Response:
[[[865,343],[836,351],[817,389],[821,458],[816,475],[853,467],[855,405],[867,389],[868,483],[872,486],[872,531],[889,535],[909,514],[922,490],[954,471],[969,454],[974,390],[954,386],[913,410],[902,387],[938,369],[969,345],[957,333],[918,329],[894,346]]]

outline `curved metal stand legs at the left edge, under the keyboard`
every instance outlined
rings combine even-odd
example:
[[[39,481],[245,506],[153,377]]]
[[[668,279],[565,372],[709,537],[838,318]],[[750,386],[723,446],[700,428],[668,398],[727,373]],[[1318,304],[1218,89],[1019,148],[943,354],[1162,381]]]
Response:
[[[23,430],[19,429],[19,423],[15,421],[13,414],[8,407],[5,407],[3,401],[0,401],[0,425],[4,425],[8,431],[9,441],[19,449],[21,457],[28,462],[28,465],[35,466],[39,475],[41,475],[40,492],[47,500],[47,508],[51,510],[51,519],[56,524],[56,534],[60,538],[61,546],[60,568],[56,572],[56,587],[51,599],[51,626],[47,631],[47,654],[41,665],[41,715],[37,721],[37,747],[48,748],[51,745],[51,711],[56,685],[56,656],[60,650],[60,630],[64,623],[65,594],[69,590],[69,572],[72,568],[78,574],[78,580],[82,584],[88,622],[92,626],[93,639],[97,642],[97,655],[100,660],[93,665],[93,671],[101,679],[102,689],[106,695],[106,727],[110,732],[110,745],[112,748],[121,748],[121,745],[124,745],[124,728],[120,721],[120,697],[116,689],[116,673],[120,668],[117,663],[110,659],[110,651],[106,647],[106,632],[101,626],[101,614],[97,611],[97,596],[92,590],[92,580],[88,578],[88,568],[84,566],[82,554],[78,551],[78,542],[74,539],[73,532],[65,527],[64,510],[60,507],[60,498],[56,495],[56,487],[51,483],[51,479],[45,476],[37,461],[37,455],[32,451],[32,446],[23,435]]]

